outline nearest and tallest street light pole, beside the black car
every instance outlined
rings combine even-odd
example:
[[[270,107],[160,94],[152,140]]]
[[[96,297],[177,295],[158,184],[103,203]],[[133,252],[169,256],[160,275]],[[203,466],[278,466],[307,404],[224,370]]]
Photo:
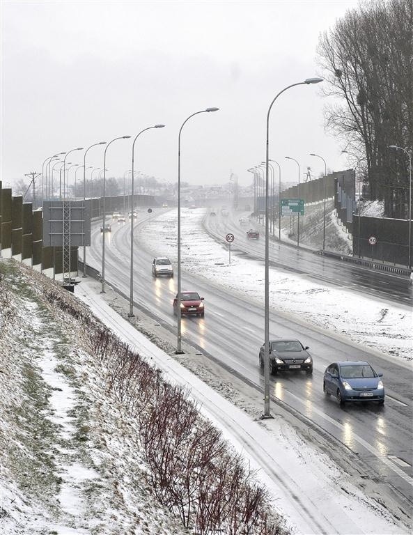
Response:
[[[270,415],[270,282],[269,282],[269,241],[268,241],[268,160],[269,160],[269,138],[270,138],[270,111],[272,105],[279,98],[279,95],[287,91],[290,87],[302,84],[318,84],[322,78],[307,78],[304,82],[287,86],[272,100],[267,111],[267,139],[265,144],[265,319],[264,319],[264,414],[263,418],[271,418]]]

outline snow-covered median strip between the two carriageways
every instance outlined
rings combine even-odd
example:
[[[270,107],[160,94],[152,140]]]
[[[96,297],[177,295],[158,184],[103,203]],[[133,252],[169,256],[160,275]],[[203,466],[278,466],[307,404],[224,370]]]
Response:
[[[177,260],[176,211],[152,219],[139,240],[155,256]],[[182,209],[181,259],[184,269],[237,293],[264,302],[264,267],[260,261],[240,258],[203,230],[205,210]],[[162,249],[154,245],[162,243]],[[272,243],[270,247],[277,247]],[[316,284],[270,267],[270,308],[296,314],[306,322],[327,328],[393,358],[413,362],[412,309],[364,297],[351,290]]]

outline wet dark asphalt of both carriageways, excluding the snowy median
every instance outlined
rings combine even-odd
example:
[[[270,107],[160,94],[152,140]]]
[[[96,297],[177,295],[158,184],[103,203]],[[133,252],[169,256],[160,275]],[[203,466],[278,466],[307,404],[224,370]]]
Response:
[[[142,217],[142,216],[141,216]],[[155,214],[152,217],[156,217]],[[135,238],[139,244],[139,229],[145,221],[137,220]],[[217,233],[220,217],[206,223],[210,234]],[[263,258],[263,242],[242,244],[244,228],[237,220],[226,220],[226,231],[237,233],[237,249],[248,251],[250,256]],[[100,223],[92,232],[92,245],[88,251],[88,263],[100,270],[102,233]],[[134,296],[137,305],[150,311],[159,323],[176,332],[172,300],[176,295],[176,279],[153,279],[151,262],[159,245],[152,250],[141,245],[135,247]],[[234,247],[235,249],[235,247]],[[368,293],[372,298],[388,299],[406,307],[411,303],[411,290],[406,278],[370,272],[365,268],[345,265],[331,258],[320,257],[309,251],[297,251],[290,246],[272,244],[270,247],[272,269],[282,267],[295,274],[325,281],[341,289],[352,288]],[[106,235],[106,281],[125,295],[129,295],[130,225],[113,224]],[[246,254],[246,253],[243,253]],[[221,366],[237,374],[249,385],[263,389],[263,374],[258,367],[258,350],[263,342],[263,307],[249,297],[234,295],[231,290],[217,287],[210,281],[194,277],[182,270],[182,288],[196,288],[205,297],[208,310],[205,318],[184,318],[182,336],[196,346],[205,358],[214,359]],[[270,391],[274,402],[283,405],[295,418],[299,418],[314,433],[327,442],[332,457],[353,473],[359,474],[377,485],[377,492],[400,508],[405,519],[413,518],[413,469],[412,469],[412,384],[410,364],[392,361],[351,341],[345,341],[324,329],[307,325],[291,315],[272,310],[270,337],[298,338],[310,346],[314,358],[312,376],[279,374],[270,378]],[[349,404],[341,408],[334,398],[322,394],[322,374],[335,360],[360,359],[371,362],[384,373],[387,400],[384,407],[375,404]],[[385,499],[385,501],[386,501]],[[393,507],[391,507],[393,509]]]

